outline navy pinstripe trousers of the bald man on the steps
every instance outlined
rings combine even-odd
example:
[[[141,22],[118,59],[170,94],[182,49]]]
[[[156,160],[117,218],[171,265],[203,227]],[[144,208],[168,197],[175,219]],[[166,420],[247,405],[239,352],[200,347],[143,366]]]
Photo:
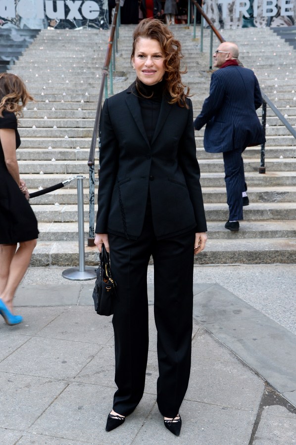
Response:
[[[244,150],[245,148],[223,152],[229,221],[244,219],[242,192],[247,189],[242,157]]]

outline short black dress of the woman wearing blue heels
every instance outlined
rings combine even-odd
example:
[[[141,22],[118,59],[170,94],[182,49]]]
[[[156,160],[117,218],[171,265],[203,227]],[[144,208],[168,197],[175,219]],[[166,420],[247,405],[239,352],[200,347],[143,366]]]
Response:
[[[14,113],[3,111],[0,128],[15,130],[16,148],[20,146]],[[0,244],[16,244],[38,238],[37,220],[25,195],[8,172],[0,141]]]

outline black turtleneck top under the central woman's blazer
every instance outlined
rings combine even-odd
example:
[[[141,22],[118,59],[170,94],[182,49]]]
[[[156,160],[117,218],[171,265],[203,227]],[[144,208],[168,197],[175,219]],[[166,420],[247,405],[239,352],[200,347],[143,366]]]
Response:
[[[163,96],[163,87],[163,80],[155,85],[145,85],[143,82],[138,81],[138,99],[149,143],[151,143],[156,128]]]

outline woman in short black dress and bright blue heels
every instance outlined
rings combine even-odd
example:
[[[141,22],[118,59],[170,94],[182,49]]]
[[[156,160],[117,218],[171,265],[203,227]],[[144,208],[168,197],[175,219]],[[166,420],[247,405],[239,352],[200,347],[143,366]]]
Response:
[[[15,152],[20,145],[17,116],[28,100],[33,97],[18,76],[0,74],[0,315],[10,325],[22,321],[20,315],[13,314],[12,300],[39,233]]]

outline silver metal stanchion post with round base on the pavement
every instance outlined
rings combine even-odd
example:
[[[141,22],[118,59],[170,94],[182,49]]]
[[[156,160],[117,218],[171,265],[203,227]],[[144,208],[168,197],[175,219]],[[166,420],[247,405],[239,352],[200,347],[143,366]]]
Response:
[[[84,261],[84,213],[83,213],[83,179],[85,176],[77,176],[78,197],[78,250],[79,267],[70,267],[62,272],[62,276],[68,280],[92,280],[97,278],[95,267],[85,266]]]

